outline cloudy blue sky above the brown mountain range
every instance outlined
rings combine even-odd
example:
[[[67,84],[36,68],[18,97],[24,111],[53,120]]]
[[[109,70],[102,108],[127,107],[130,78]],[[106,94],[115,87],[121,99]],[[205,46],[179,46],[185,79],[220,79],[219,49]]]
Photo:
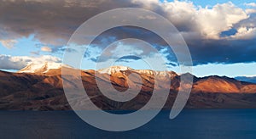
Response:
[[[144,8],[168,19],[183,36],[194,65],[193,75],[256,75],[253,0],[2,0],[0,3],[1,70],[16,71],[27,64],[46,61],[61,63],[63,53],[69,50],[68,40],[87,19],[114,8]],[[161,23],[158,25],[163,27]],[[157,52],[151,51],[148,44]],[[148,60],[160,67],[156,60],[160,54],[169,70],[179,72],[172,49],[160,36],[143,28],[116,27],[103,32],[86,47],[81,69],[95,69],[96,64],[108,66],[107,63],[150,69]],[[83,52],[83,47],[79,51]]]

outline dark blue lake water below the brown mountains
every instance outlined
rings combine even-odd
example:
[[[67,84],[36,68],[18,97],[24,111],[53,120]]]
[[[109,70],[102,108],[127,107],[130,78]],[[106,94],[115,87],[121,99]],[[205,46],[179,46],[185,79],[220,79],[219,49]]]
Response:
[[[133,131],[102,131],[72,111],[0,111],[0,138],[256,138],[256,109],[162,111]]]

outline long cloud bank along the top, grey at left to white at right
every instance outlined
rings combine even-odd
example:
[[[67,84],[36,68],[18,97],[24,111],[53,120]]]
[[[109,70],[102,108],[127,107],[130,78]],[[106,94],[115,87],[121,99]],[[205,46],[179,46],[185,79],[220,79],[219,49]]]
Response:
[[[4,37],[34,34],[46,44],[63,45],[86,19],[108,9],[123,7],[148,8],[170,19],[179,31],[196,31],[207,38],[218,38],[221,31],[247,19],[246,12],[233,3],[201,8],[186,1],[2,1],[0,13],[4,14],[0,15],[0,31],[3,33],[0,34]],[[154,19],[149,15],[143,18]]]

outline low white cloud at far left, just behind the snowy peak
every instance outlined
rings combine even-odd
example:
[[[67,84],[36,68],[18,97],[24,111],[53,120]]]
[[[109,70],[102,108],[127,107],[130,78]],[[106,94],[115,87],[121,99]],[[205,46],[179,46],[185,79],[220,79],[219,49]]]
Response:
[[[49,55],[40,57],[0,55],[0,69],[22,69],[27,64],[42,64],[44,62],[61,63],[60,58]]]

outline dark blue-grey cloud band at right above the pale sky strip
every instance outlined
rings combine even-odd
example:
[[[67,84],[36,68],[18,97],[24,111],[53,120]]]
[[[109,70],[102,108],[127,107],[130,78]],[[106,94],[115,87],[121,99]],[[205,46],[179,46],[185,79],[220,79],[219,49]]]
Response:
[[[256,62],[256,40],[195,40],[189,42],[193,64]]]

